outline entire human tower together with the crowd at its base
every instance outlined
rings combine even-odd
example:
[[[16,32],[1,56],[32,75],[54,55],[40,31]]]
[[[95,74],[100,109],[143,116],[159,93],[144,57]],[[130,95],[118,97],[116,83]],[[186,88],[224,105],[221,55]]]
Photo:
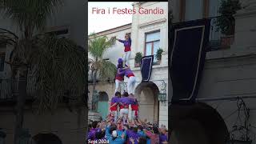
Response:
[[[139,118],[138,101],[134,97],[136,78],[129,65],[130,35],[126,34],[125,40],[117,40],[124,44],[125,54],[124,58],[118,59],[115,95],[110,102],[110,114],[105,120],[90,122],[86,141],[110,144],[166,144],[166,126],[158,126],[158,122],[150,123]],[[128,78],[127,92],[121,94],[119,89],[124,77]]]

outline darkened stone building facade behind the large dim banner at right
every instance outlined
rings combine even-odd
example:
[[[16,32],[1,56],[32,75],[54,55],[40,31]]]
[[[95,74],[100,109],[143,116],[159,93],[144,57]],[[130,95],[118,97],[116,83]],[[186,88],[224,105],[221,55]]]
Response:
[[[218,1],[193,2],[172,1],[172,21],[220,16],[216,13]],[[228,45],[223,42],[225,34],[210,30],[210,44],[215,45],[210,45],[206,54],[197,102],[190,106],[170,105],[170,143],[256,142],[256,6],[255,1],[240,2],[242,10],[234,14],[235,30]],[[214,29],[214,23],[211,25]],[[169,94],[171,98],[171,86]]]

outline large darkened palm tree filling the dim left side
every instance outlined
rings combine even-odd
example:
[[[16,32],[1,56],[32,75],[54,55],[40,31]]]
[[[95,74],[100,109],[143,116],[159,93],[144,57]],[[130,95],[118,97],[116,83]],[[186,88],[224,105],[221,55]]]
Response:
[[[0,0],[0,13],[18,27],[18,34],[0,29],[0,44],[11,45],[12,76],[18,76],[14,144],[22,133],[28,74],[36,79],[34,98],[40,112],[54,110],[63,97],[84,100],[86,82],[86,53],[69,38],[58,38],[43,32],[46,21],[62,0]],[[70,94],[63,94],[68,91]],[[81,101],[80,101],[81,100]]]

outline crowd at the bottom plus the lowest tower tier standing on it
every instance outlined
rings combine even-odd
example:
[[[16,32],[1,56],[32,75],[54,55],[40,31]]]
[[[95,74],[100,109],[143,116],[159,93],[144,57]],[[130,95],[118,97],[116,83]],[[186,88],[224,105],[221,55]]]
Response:
[[[132,111],[130,116],[129,110]],[[90,123],[87,143],[166,144],[168,132],[166,126],[141,120],[136,98],[127,92],[121,97],[117,91],[111,99],[110,114],[106,120]]]

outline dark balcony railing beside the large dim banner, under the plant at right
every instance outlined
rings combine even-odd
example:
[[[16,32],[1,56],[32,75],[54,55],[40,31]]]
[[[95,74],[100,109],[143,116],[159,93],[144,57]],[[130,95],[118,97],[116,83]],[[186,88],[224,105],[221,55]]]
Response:
[[[218,18],[224,18],[223,16],[212,17],[210,19],[210,34],[209,34],[209,43],[207,46],[207,51],[214,50],[226,50],[234,42],[234,32],[231,34],[222,34],[222,30],[218,28]],[[173,23],[173,25],[180,24]]]

